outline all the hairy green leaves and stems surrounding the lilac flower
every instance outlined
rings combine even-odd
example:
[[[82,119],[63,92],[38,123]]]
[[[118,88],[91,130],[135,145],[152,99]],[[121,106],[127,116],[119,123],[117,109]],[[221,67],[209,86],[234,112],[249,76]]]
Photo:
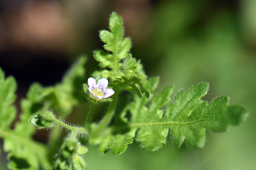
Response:
[[[140,60],[129,53],[131,39],[124,38],[123,20],[115,12],[110,15],[109,29],[99,32],[106,51],[94,51],[94,58],[103,69],[92,74],[95,80],[91,78],[96,82],[102,78],[108,81],[104,79],[105,84],[97,84],[90,92],[84,76],[86,58],[80,57],[56,86],[31,85],[27,98],[21,101],[22,114],[14,129],[10,126],[17,116],[13,104],[17,85],[13,77],[5,78],[0,69],[0,137],[4,139],[10,169],[86,170],[83,157],[88,149],[81,143],[99,145],[101,154],[110,151],[120,155],[133,141],[147,150],[158,150],[169,134],[177,147],[184,144],[188,148],[202,148],[207,129],[223,132],[245,120],[246,110],[238,105],[229,106],[228,97],[204,101],[202,98],[209,90],[206,82],[187,91],[180,90],[173,100],[173,86],[155,94],[159,78],[147,78]],[[107,86],[114,90],[113,96],[95,99],[96,94],[105,95]],[[91,107],[83,126],[70,126],[60,120],[60,116],[65,118],[74,106],[86,100]],[[108,110],[102,120],[91,123],[94,106],[100,102],[110,102]],[[47,146],[32,139],[35,127],[52,129]],[[60,127],[69,131],[64,139]]]

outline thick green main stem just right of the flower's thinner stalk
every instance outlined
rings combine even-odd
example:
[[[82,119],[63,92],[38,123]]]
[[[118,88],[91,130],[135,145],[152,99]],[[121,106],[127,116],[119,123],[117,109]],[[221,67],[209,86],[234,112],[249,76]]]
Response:
[[[111,119],[114,116],[119,90],[115,89],[114,91],[115,91],[115,93],[113,95],[113,101],[110,103],[108,111],[106,112],[106,115],[103,117],[103,119],[99,123],[99,126],[93,131],[93,133],[92,133],[93,136],[97,136],[102,131],[102,129],[107,127],[108,124],[110,123]]]

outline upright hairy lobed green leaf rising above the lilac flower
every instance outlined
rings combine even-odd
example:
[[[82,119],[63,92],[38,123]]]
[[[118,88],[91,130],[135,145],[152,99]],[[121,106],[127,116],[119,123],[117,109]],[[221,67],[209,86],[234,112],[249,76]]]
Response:
[[[94,58],[99,62],[100,67],[109,67],[111,71],[95,71],[93,77],[102,74],[103,77],[110,78],[110,81],[117,83],[119,90],[126,90],[132,94],[135,92],[140,98],[145,93],[148,97],[152,90],[148,85],[147,76],[143,72],[140,61],[136,61],[128,53],[132,43],[127,37],[123,39],[123,20],[115,12],[110,15],[109,28],[111,32],[102,30],[99,32],[99,37],[106,43],[105,50],[112,53],[96,50]]]

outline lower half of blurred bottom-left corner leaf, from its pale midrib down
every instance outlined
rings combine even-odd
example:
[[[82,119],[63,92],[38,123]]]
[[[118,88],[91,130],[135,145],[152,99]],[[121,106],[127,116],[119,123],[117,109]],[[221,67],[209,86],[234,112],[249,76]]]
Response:
[[[37,170],[39,164],[45,170],[51,169],[51,164],[47,159],[47,148],[41,143],[26,138],[22,134],[12,131],[1,131],[4,138],[4,150],[8,153],[12,170]]]

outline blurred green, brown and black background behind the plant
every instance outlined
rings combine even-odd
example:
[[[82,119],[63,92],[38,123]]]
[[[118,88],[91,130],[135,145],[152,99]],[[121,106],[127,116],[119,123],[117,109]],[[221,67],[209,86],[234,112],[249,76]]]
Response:
[[[250,115],[227,133],[208,131],[206,146],[199,150],[176,148],[169,139],[156,152],[140,149],[135,142],[114,157],[101,156],[97,146],[88,146],[89,169],[255,169],[255,0],[2,0],[0,67],[18,81],[16,106],[32,82],[54,85],[80,54],[88,56],[90,77],[99,68],[92,51],[103,45],[98,30],[108,29],[112,11],[123,17],[125,35],[133,42],[132,55],[141,59],[146,74],[160,76],[158,91],[175,84],[177,92],[206,81],[211,89],[205,100],[229,96],[230,104],[244,106]],[[69,121],[81,123],[86,109],[87,105],[76,108]],[[34,138],[46,143],[47,132]],[[6,168],[4,156],[1,170]]]

